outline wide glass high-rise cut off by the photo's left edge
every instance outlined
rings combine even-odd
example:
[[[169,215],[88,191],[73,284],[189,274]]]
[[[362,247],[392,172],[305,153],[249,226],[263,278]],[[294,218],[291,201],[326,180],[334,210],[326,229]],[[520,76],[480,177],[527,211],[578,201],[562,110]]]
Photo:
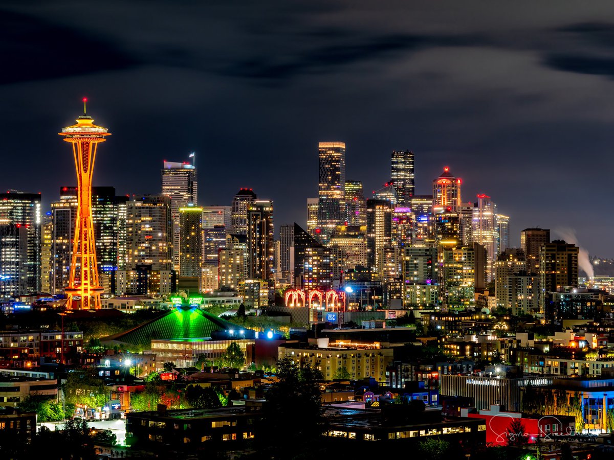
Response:
[[[10,226],[14,226],[14,228],[17,228],[17,226],[19,228],[25,227],[25,253],[23,251],[14,253],[13,249],[10,250],[13,256],[20,257],[21,260],[18,264],[21,267],[20,273],[24,277],[18,283],[17,280],[13,280],[14,283],[17,283],[17,288],[12,289],[12,292],[17,292],[18,295],[35,294],[41,286],[41,194],[23,193],[15,190],[0,193],[0,224],[8,225],[9,227],[5,231],[11,234],[22,233],[23,231],[11,229]],[[14,241],[9,242],[9,239],[13,238],[7,236],[5,240],[9,247],[14,246]],[[13,263],[17,263],[17,261],[10,264]],[[0,266],[0,276],[11,275],[6,274],[4,267]]]

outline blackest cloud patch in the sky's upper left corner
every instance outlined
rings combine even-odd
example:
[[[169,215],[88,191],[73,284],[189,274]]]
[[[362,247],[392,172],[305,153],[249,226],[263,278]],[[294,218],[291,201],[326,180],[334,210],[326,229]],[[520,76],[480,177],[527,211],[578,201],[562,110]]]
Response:
[[[0,10],[0,84],[128,69],[138,60],[83,29]]]

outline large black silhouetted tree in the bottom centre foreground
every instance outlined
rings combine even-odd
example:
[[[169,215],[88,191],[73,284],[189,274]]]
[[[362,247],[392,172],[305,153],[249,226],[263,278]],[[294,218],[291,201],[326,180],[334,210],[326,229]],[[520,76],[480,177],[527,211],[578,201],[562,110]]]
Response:
[[[313,448],[324,432],[322,395],[314,369],[298,367],[288,357],[278,361],[277,377],[266,393],[261,424],[266,429],[257,439],[267,458],[285,459]]]

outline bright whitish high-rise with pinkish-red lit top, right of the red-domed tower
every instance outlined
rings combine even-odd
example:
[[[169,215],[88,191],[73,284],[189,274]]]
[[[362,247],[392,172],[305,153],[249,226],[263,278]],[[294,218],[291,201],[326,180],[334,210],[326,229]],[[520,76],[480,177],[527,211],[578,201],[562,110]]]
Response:
[[[499,249],[499,226],[497,226],[497,205],[491,197],[480,194],[473,207],[472,240],[486,249],[486,281],[495,275],[494,263]]]

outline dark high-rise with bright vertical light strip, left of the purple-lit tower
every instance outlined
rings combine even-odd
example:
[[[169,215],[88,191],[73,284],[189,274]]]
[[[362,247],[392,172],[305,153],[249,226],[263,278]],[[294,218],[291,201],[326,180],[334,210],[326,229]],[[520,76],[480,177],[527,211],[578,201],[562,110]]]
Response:
[[[392,245],[392,203],[387,200],[367,200],[367,266],[377,273],[379,255]]]

